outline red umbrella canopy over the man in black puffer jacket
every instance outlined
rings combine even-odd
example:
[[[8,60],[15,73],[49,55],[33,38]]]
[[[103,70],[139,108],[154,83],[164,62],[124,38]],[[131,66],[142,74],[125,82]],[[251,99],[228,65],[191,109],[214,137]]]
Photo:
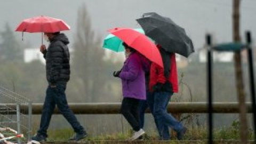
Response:
[[[23,20],[15,31],[29,33],[55,33],[69,29],[70,27],[63,20],[40,16]]]

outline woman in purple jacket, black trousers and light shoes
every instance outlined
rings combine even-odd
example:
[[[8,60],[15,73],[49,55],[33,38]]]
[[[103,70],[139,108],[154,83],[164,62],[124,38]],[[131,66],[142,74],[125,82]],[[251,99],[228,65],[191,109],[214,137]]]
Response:
[[[139,101],[146,99],[145,73],[141,65],[143,56],[132,47],[123,43],[125,47],[124,66],[119,71],[114,71],[114,76],[122,79],[123,101],[121,114],[134,130],[129,140],[136,140],[145,134],[140,127]]]

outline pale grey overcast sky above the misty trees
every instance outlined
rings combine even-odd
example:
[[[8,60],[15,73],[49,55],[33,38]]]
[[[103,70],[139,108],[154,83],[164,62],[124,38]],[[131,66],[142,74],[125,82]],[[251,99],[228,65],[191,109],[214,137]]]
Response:
[[[59,18],[70,25],[65,31],[71,43],[76,32],[77,10],[85,4],[90,13],[93,29],[100,37],[114,27],[140,27],[135,19],[145,12],[157,12],[171,18],[185,28],[196,48],[204,44],[205,33],[213,33],[218,42],[232,39],[231,0],[1,0],[0,31],[6,22],[15,30],[23,20],[39,15]],[[256,1],[241,2],[241,38],[244,31],[251,30],[256,39]],[[20,38],[21,33],[15,33]],[[25,34],[25,42],[33,47],[41,44],[39,34]]]

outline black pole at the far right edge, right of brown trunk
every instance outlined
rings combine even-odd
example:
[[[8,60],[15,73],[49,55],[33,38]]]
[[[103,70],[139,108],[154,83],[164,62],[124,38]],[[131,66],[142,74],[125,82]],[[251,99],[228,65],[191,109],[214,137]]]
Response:
[[[247,58],[249,62],[249,76],[250,76],[250,89],[251,89],[251,100],[252,100],[252,111],[253,111],[253,129],[254,129],[254,142],[256,142],[256,105],[255,105],[255,85],[254,85],[254,73],[253,73],[253,55],[252,55],[252,39],[250,31],[246,31],[246,43],[247,43]]]

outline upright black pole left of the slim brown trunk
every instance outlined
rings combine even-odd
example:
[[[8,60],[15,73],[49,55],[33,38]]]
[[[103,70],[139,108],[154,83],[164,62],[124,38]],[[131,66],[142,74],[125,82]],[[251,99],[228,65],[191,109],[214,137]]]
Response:
[[[213,138],[213,123],[212,123],[212,52],[211,52],[211,35],[206,35],[206,43],[209,49],[207,50],[207,82],[208,82],[208,122],[209,122],[209,143],[212,144]]]

